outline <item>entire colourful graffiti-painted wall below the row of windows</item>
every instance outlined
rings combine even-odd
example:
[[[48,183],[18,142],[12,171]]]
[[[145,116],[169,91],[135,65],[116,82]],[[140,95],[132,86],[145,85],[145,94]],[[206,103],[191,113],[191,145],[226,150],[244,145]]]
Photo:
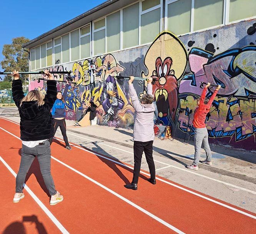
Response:
[[[71,71],[78,84],[68,84],[66,118],[81,119],[93,101],[97,106],[97,124],[132,128],[135,111],[128,82],[115,76],[153,77],[159,113],[155,133],[163,132],[160,129],[168,125],[170,134],[176,126],[177,136],[184,137],[187,129],[193,136],[196,99],[202,92],[200,82],[210,82],[224,87],[206,118],[212,142],[252,149],[256,138],[256,46],[250,25],[240,22],[179,38],[162,32],[150,45],[50,68]],[[237,40],[226,41],[226,30],[237,30]],[[58,74],[54,77],[61,81],[67,78]],[[58,82],[58,90],[63,92],[65,85]],[[134,81],[134,87],[138,97],[146,93],[146,81]],[[29,89],[45,93],[46,84],[30,81]],[[207,97],[213,91],[214,88],[208,89]]]

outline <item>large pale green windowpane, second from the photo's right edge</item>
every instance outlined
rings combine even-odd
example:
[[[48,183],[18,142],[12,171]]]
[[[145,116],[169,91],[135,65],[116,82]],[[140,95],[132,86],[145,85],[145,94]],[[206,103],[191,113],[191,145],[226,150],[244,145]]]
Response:
[[[194,31],[223,23],[224,0],[194,0]]]

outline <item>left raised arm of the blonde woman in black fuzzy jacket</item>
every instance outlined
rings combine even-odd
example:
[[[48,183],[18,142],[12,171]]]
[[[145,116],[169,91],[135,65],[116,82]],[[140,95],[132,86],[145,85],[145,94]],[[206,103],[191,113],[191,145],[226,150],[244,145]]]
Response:
[[[22,89],[22,80],[20,79],[19,72],[13,71],[13,82],[12,82],[12,98],[15,102],[15,105],[19,107],[20,101],[25,97]]]

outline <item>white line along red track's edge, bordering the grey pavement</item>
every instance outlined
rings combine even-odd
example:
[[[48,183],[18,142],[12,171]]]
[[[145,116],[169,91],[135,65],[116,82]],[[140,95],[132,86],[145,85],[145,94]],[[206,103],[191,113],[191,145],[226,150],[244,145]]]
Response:
[[[10,121],[10,122],[12,122],[12,121]],[[16,124],[17,124],[17,123],[16,123]],[[2,128],[0,127],[0,129],[2,129]],[[4,130],[4,129],[3,129],[3,130]],[[8,132],[7,130],[4,130],[4,131],[5,131],[5,132]],[[10,133],[10,132],[8,132],[8,133]],[[13,135],[12,133],[10,133],[10,134]],[[15,135],[13,135],[13,136],[14,136],[14,137],[17,137],[17,136],[15,136]],[[17,137],[17,138],[18,138],[18,137]],[[59,141],[61,141],[61,142],[64,142],[64,141],[61,140],[61,139],[58,139],[58,138],[55,138],[55,139],[57,139],[57,140],[59,140]],[[125,167],[127,167],[127,168],[133,169],[133,167],[131,167],[131,166],[128,166],[128,165],[125,165],[125,164],[120,163],[120,162],[118,162],[118,161],[115,161],[115,160],[112,160],[112,159],[110,159],[110,158],[104,157],[104,156],[102,156],[102,155],[100,155],[100,154],[98,154],[98,153],[96,153],[96,152],[91,152],[90,150],[86,150],[85,148],[79,147],[79,146],[77,146],[77,145],[73,145],[73,144],[71,144],[71,145],[72,145],[73,147],[78,148],[78,149],[84,150],[84,151],[86,151],[86,152],[88,152],[88,153],[94,154],[94,155],[96,155],[96,156],[98,156],[98,157],[105,158],[106,160],[109,160],[109,161],[113,161],[114,163],[119,164],[119,165],[121,165],[121,166],[125,166]],[[148,174],[148,173],[146,173],[146,172],[144,172],[144,171],[140,171],[140,173],[142,173],[142,174],[144,174],[144,175],[147,175],[147,176],[150,176],[150,174]],[[156,177],[156,180],[162,181],[163,183],[166,183],[166,184],[171,185],[171,186],[173,186],[173,187],[179,188],[179,189],[181,189],[181,190],[183,190],[183,191],[186,191],[186,192],[188,192],[188,193],[194,194],[195,196],[198,196],[198,197],[200,197],[200,198],[206,199],[206,200],[211,201],[211,202],[213,202],[213,203],[219,204],[220,206],[224,206],[224,207],[226,207],[226,208],[228,208],[228,209],[231,209],[231,210],[236,211],[236,212],[238,212],[238,213],[244,214],[244,215],[246,215],[246,216],[248,216],[248,217],[250,217],[250,218],[256,219],[256,216],[253,216],[252,214],[249,214],[249,213],[246,213],[246,212],[241,211],[241,210],[239,210],[239,209],[233,208],[232,206],[228,206],[228,205],[226,205],[226,204],[224,204],[224,203],[221,203],[221,202],[219,202],[219,201],[215,201],[214,199],[208,198],[208,197],[203,196],[203,195],[201,195],[201,194],[199,194],[199,193],[195,193],[195,192],[190,191],[190,190],[188,190],[188,189],[186,189],[186,188],[183,188],[183,187],[181,187],[181,186],[175,185],[175,184],[173,184],[173,183],[171,183],[171,182],[169,182],[169,181],[166,181],[166,180],[163,180],[163,179],[157,178],[157,177]],[[253,191],[253,192],[254,192],[254,191]]]

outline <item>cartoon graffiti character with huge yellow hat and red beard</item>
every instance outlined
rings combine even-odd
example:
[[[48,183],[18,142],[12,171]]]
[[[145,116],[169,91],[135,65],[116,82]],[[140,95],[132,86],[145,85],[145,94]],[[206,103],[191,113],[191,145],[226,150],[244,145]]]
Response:
[[[178,80],[186,69],[186,50],[174,35],[163,32],[148,49],[144,64],[148,75],[156,79],[153,94],[158,109],[157,122],[171,125],[169,120],[175,122],[178,108]],[[142,72],[143,77],[146,75]]]

